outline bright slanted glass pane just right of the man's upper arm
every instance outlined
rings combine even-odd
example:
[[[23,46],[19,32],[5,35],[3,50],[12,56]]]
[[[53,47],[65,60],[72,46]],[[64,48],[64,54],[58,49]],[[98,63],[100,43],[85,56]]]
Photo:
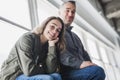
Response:
[[[87,39],[87,46],[88,46],[88,50],[90,52],[91,57],[96,58],[96,59],[100,59],[95,41],[88,38]]]

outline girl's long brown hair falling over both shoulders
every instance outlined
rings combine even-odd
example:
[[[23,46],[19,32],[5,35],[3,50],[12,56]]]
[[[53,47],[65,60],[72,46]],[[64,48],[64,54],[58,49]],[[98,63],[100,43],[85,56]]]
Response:
[[[43,32],[46,28],[46,25],[53,19],[60,21],[60,23],[62,24],[62,29],[61,29],[61,32],[59,34],[59,41],[56,43],[56,46],[59,49],[59,51],[63,51],[65,49],[64,23],[60,17],[55,17],[55,16],[48,17],[46,20],[43,21],[43,23],[40,26],[35,27],[32,30],[32,32],[37,34],[37,35],[43,34]]]

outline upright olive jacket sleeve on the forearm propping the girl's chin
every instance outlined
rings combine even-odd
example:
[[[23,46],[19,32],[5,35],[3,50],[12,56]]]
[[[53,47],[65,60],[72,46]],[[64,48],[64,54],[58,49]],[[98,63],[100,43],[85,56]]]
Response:
[[[49,46],[46,58],[47,72],[53,73],[57,70],[57,55],[55,46]]]

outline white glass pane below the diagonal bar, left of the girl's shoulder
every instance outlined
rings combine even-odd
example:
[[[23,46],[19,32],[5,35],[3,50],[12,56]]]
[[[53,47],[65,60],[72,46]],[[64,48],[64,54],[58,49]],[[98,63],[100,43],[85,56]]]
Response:
[[[7,58],[12,46],[16,40],[25,32],[25,30],[0,20],[0,67]]]

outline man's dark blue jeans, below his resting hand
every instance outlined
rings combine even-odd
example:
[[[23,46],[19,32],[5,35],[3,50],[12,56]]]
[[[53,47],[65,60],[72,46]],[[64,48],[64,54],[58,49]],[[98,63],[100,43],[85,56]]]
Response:
[[[99,66],[89,66],[62,73],[63,80],[105,80],[104,70]]]

